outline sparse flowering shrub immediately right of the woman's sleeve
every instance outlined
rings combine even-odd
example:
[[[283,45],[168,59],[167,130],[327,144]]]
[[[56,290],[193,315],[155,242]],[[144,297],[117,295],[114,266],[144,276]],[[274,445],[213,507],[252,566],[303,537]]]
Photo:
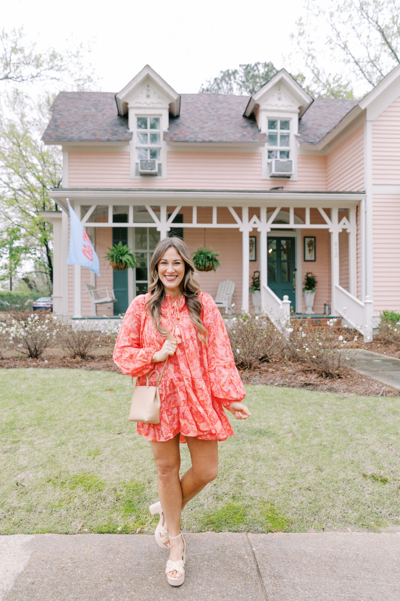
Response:
[[[281,354],[284,338],[267,317],[242,313],[225,324],[237,367],[251,369]]]

